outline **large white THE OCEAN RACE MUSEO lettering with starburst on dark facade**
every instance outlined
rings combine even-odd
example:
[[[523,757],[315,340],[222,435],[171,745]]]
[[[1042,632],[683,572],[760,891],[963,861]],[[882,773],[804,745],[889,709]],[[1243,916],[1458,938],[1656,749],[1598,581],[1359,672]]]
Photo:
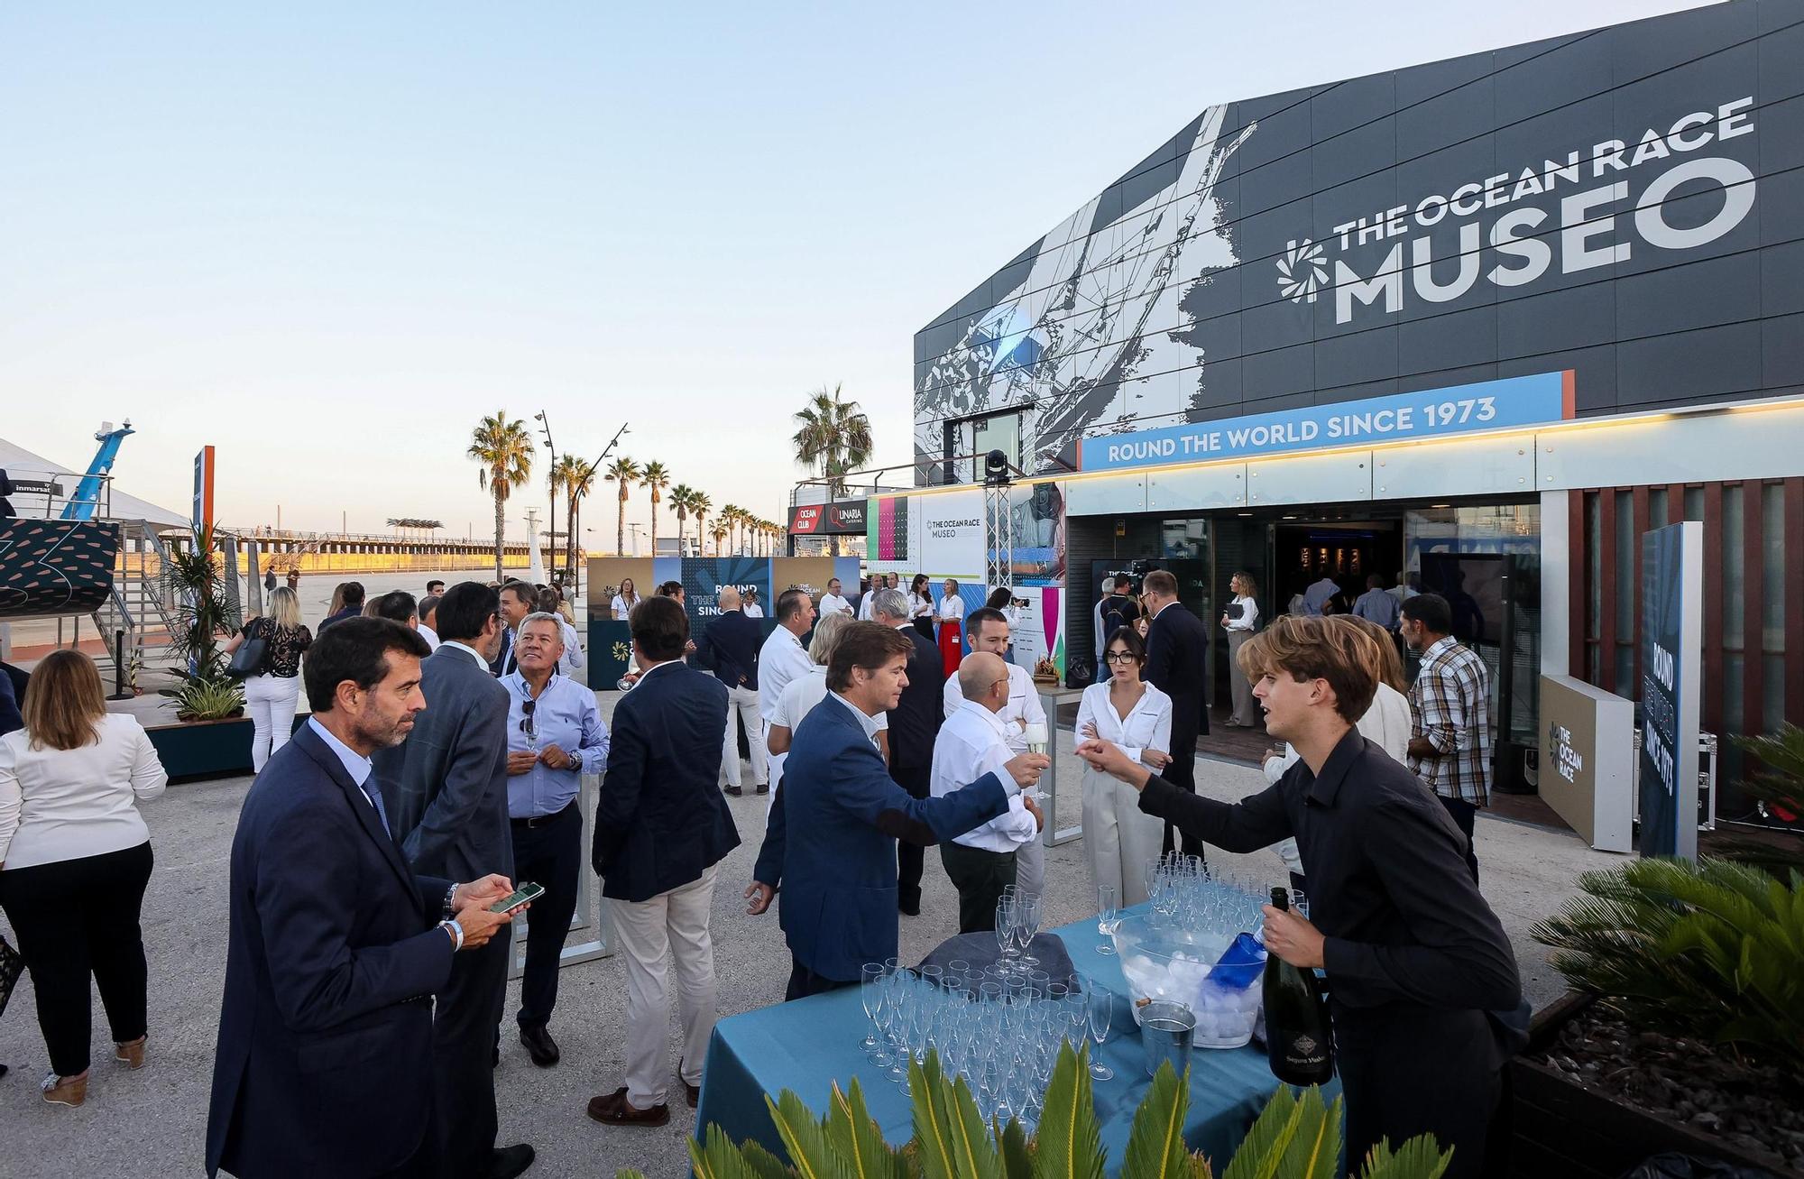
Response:
[[[1414,204],[1375,209],[1335,225],[1324,242],[1292,240],[1277,260],[1279,294],[1315,303],[1331,290],[1335,323],[1349,323],[1367,306],[1394,315],[1405,297],[1450,303],[1479,279],[1526,287],[1555,265],[1560,274],[1577,274],[1627,261],[1643,243],[1667,251],[1708,245],[1748,216],[1755,182],[1737,159],[1696,153],[1752,135],[1752,96],[1739,97],[1647,128],[1634,142],[1606,139],[1562,159],[1474,177]],[[1708,189],[1721,189],[1721,206],[1710,206],[1701,220],[1674,224],[1667,200]],[[1553,193],[1562,193],[1557,209],[1512,207]],[[1389,252],[1362,269],[1335,256],[1393,240]]]

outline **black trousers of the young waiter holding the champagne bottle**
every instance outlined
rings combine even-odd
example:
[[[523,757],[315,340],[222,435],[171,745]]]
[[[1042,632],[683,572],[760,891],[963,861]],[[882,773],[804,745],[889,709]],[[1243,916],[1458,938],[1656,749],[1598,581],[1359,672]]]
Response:
[[[1454,1150],[1447,1179],[1486,1174],[1503,1071],[1483,1011],[1391,1004],[1348,1017],[1335,1008],[1335,1053],[1349,1174],[1380,1138],[1394,1148],[1418,1134]]]

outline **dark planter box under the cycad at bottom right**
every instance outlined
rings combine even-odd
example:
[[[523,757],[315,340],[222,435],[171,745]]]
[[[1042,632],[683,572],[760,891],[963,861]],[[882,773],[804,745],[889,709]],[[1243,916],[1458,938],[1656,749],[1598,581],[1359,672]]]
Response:
[[[1588,1006],[1591,995],[1568,993],[1535,1013],[1528,1047],[1510,1062],[1515,1139],[1510,1174],[1521,1179],[1618,1179],[1651,1154],[1678,1150],[1701,1159],[1723,1159],[1775,1175],[1804,1179],[1772,1156],[1750,1156],[1721,1138],[1699,1134],[1634,1105],[1571,1082],[1537,1064],[1560,1028]]]

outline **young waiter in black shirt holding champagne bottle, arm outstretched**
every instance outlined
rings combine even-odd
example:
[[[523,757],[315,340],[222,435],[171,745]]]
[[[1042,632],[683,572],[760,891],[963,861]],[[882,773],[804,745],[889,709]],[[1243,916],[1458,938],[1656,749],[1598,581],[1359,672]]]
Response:
[[[1348,1168],[1380,1139],[1432,1134],[1447,1175],[1483,1174],[1505,1053],[1486,1011],[1521,1001],[1515,955],[1465,862],[1465,836],[1407,768],[1353,721],[1376,692],[1373,640],[1337,618],[1286,615],[1241,669],[1266,730],[1301,759],[1238,804],[1185,793],[1106,741],[1077,754],[1140,790],[1140,809],[1225,851],[1293,835],[1310,916],[1265,910],[1265,945],[1328,972],[1348,1110]]]

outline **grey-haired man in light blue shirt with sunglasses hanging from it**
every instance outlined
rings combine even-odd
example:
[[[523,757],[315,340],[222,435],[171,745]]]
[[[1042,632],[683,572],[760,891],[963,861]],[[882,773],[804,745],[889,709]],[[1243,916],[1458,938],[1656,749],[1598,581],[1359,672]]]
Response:
[[[516,669],[507,689],[507,817],[514,836],[514,880],[545,885],[527,916],[527,970],[520,981],[520,1042],[532,1064],[557,1064],[548,1024],[557,1002],[557,964],[575,914],[583,871],[584,773],[608,768],[608,727],[595,692],[557,674],[563,626],[557,615],[530,613],[514,633]]]

